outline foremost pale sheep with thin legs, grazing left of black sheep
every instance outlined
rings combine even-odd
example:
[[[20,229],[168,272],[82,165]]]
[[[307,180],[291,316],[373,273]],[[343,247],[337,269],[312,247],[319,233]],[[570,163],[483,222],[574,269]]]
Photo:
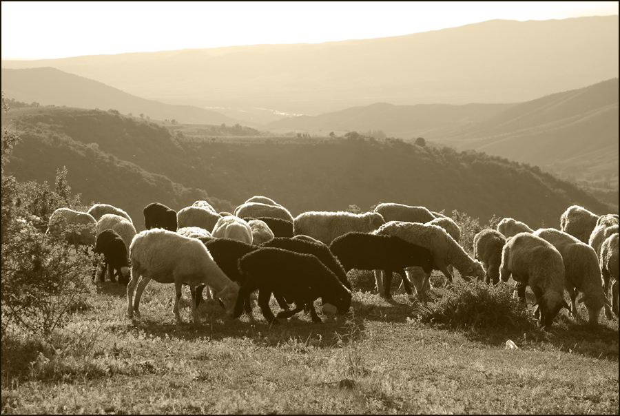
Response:
[[[130,256],[132,279],[127,284],[128,317],[131,318],[134,312],[137,316],[140,315],[138,310],[140,298],[151,279],[160,283],[174,283],[176,300],[173,312],[178,324],[183,322],[178,312],[178,301],[183,284],[188,284],[189,291],[192,293],[192,314],[195,324],[200,322],[196,309],[196,286],[198,284],[207,284],[215,289],[216,298],[224,303],[228,315],[233,314],[239,286],[224,274],[205,245],[195,238],[179,236],[165,229],[142,231],[132,242]],[[140,276],[142,280],[138,284]],[[138,289],[132,308],[132,297],[136,285]]]

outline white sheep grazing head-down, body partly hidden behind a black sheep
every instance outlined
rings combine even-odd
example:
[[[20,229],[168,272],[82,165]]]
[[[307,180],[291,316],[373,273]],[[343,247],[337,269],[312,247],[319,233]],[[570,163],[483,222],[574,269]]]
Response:
[[[479,280],[484,279],[482,264],[469,257],[463,247],[442,227],[420,224],[418,222],[389,221],[374,233],[380,236],[397,236],[431,250],[435,262],[433,269],[442,271],[449,281],[452,281],[453,276],[448,271],[448,264],[456,267],[464,279],[471,277],[478,278]],[[422,297],[426,296],[426,292],[430,289],[430,277],[431,273],[425,273],[422,282],[412,281],[416,291],[418,289],[422,290],[422,293],[418,291],[418,294]],[[377,278],[376,274],[375,278]],[[383,282],[380,280],[380,278],[377,279],[378,289],[383,287]]]

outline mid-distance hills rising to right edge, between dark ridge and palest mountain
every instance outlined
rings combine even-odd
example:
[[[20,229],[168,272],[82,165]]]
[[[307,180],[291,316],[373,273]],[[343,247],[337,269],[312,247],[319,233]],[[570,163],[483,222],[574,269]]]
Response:
[[[276,132],[383,130],[538,165],[577,179],[618,178],[618,79],[520,104],[375,103],[265,125]]]

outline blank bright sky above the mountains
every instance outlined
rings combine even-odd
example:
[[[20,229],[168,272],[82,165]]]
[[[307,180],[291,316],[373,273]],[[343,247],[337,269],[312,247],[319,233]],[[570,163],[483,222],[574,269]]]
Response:
[[[369,39],[490,19],[618,14],[618,3],[2,1],[2,59]]]

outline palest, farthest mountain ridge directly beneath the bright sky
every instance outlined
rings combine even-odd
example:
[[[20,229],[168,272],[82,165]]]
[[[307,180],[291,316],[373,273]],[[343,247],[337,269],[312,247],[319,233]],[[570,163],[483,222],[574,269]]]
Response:
[[[316,115],[382,102],[517,103],[590,85],[618,76],[618,32],[618,16],[491,20],[400,37],[2,67],[52,66],[166,103]]]

